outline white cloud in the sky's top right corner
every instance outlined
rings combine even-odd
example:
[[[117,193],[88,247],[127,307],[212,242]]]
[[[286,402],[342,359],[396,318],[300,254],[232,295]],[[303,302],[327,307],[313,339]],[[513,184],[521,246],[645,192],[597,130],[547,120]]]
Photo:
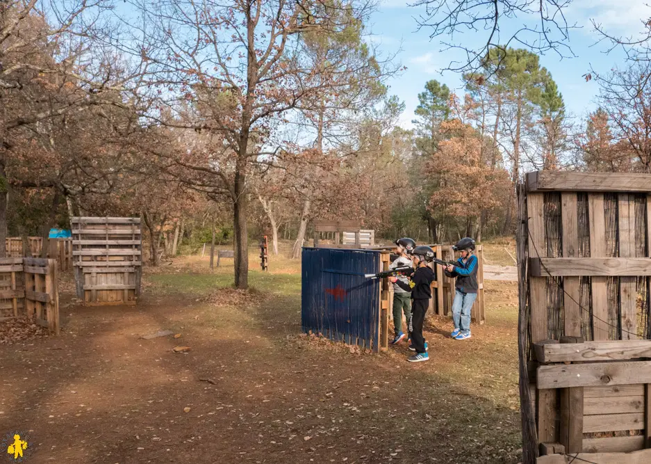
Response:
[[[612,34],[635,35],[642,21],[651,17],[644,0],[574,0],[567,10],[568,24],[577,22],[584,33],[591,33],[591,19]]]

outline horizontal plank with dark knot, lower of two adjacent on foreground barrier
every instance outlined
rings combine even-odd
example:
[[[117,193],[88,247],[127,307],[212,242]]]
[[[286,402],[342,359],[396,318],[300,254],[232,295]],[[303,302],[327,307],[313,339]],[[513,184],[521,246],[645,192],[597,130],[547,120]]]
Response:
[[[651,361],[591,362],[538,367],[538,388],[651,383]],[[552,441],[552,440],[548,440]]]

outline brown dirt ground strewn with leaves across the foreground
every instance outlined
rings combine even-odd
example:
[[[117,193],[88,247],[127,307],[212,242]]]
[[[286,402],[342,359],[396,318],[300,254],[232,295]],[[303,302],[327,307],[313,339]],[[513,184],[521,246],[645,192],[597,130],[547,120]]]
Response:
[[[297,295],[150,293],[63,314],[61,337],[0,346],[0,431],[30,431],[28,462],[518,462],[510,323],[455,344],[435,321],[433,360],[414,366],[404,345],[300,337]],[[139,338],[159,329],[181,337]]]

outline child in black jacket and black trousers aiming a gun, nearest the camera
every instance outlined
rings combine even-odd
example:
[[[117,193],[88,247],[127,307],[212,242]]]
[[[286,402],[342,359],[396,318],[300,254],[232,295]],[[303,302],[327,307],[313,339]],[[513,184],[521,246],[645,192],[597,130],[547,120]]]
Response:
[[[431,298],[431,282],[434,282],[434,271],[427,266],[427,262],[434,257],[434,250],[429,246],[417,246],[412,254],[417,269],[411,275],[411,282],[406,284],[395,277],[390,278],[390,280],[411,293],[413,304],[411,305],[411,324],[409,327],[411,335],[409,349],[415,351],[416,354],[411,356],[408,361],[421,362],[429,360],[427,344],[425,343],[425,337],[422,335],[422,325],[425,322],[425,313],[429,307],[429,298]]]

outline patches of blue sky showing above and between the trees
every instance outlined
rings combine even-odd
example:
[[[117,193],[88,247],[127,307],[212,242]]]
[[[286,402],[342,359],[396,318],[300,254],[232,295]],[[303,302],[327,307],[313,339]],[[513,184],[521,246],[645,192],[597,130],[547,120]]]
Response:
[[[400,120],[402,127],[411,127],[413,111],[418,105],[418,93],[425,82],[436,79],[456,90],[459,94],[461,80],[459,74],[441,70],[451,59],[463,59],[459,52],[441,51],[440,38],[429,40],[427,29],[417,31],[415,17],[424,13],[424,7],[409,7],[406,0],[380,0],[377,13],[372,16],[370,31],[372,41],[379,45],[385,54],[402,50],[399,61],[407,67],[399,77],[389,81],[390,93],[398,95],[405,102],[406,110]],[[607,72],[622,63],[621,54],[605,54],[606,45],[596,44],[598,34],[593,31],[591,19],[602,24],[616,35],[632,35],[641,31],[641,18],[651,17],[651,8],[643,0],[572,0],[566,10],[568,23],[581,27],[570,31],[569,45],[576,58],[560,59],[554,52],[541,57],[541,65],[547,67],[563,94],[566,107],[577,118],[595,109],[595,95],[598,84],[586,82],[583,75],[591,65],[598,72]],[[511,23],[519,26],[522,20]],[[477,33],[457,35],[456,42],[472,44],[479,40]]]

